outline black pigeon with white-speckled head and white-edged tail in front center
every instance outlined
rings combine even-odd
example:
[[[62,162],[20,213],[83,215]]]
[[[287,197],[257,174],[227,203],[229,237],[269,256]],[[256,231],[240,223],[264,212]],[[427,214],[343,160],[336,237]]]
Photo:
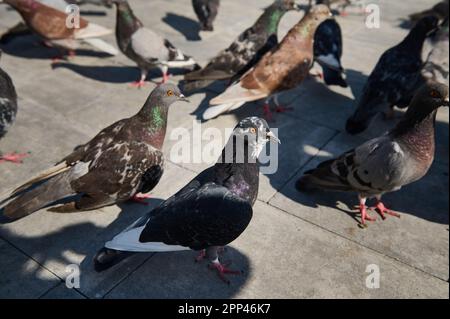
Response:
[[[234,273],[221,264],[220,247],[238,238],[249,225],[258,195],[257,158],[264,145],[279,139],[267,122],[242,120],[218,162],[197,175],[175,195],[105,244],[94,258],[97,271],[106,270],[137,252],[201,251],[219,276]]]

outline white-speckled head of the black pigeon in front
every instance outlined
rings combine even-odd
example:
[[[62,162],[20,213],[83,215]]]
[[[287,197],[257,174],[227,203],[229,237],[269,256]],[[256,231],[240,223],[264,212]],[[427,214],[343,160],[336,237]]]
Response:
[[[231,140],[235,140],[235,151],[239,154],[240,147],[244,147],[245,153],[252,159],[259,156],[267,142],[281,143],[278,137],[270,130],[267,122],[259,117],[247,117],[239,122],[233,131]]]

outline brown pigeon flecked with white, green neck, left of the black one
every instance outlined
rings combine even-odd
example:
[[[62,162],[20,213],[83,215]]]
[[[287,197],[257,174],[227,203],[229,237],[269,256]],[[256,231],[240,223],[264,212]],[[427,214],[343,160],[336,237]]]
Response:
[[[59,213],[94,210],[150,192],[163,173],[169,106],[187,101],[177,86],[156,87],[133,117],[102,130],[56,166],[16,189],[3,213],[16,220],[53,203]],[[7,199],[7,200],[9,200]]]

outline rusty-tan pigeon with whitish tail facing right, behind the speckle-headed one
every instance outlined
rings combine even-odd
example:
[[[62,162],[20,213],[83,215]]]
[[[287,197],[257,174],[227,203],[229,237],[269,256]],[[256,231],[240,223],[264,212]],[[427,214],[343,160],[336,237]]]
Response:
[[[317,27],[331,16],[325,5],[314,6],[285,36],[279,45],[267,52],[238,82],[210,101],[203,119],[209,120],[235,110],[246,102],[275,95],[277,112],[284,111],[277,103],[277,95],[303,82],[313,62],[313,40]],[[264,106],[271,119],[268,101]]]

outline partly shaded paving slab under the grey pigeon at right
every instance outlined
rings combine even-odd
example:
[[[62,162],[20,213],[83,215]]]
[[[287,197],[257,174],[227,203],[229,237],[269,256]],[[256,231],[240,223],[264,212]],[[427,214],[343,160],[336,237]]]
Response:
[[[295,182],[321,161],[338,156],[359,145],[340,134],[286,184],[270,204],[328,229],[382,254],[412,265],[443,280],[448,279],[448,165],[438,162],[422,180],[384,196],[388,207],[402,214],[400,219],[369,223],[358,227],[356,194],[299,193]],[[430,196],[433,194],[433,196]],[[375,213],[373,213],[376,215]],[[389,234],[389,235],[387,235]],[[420,252],[420,254],[418,254]]]

